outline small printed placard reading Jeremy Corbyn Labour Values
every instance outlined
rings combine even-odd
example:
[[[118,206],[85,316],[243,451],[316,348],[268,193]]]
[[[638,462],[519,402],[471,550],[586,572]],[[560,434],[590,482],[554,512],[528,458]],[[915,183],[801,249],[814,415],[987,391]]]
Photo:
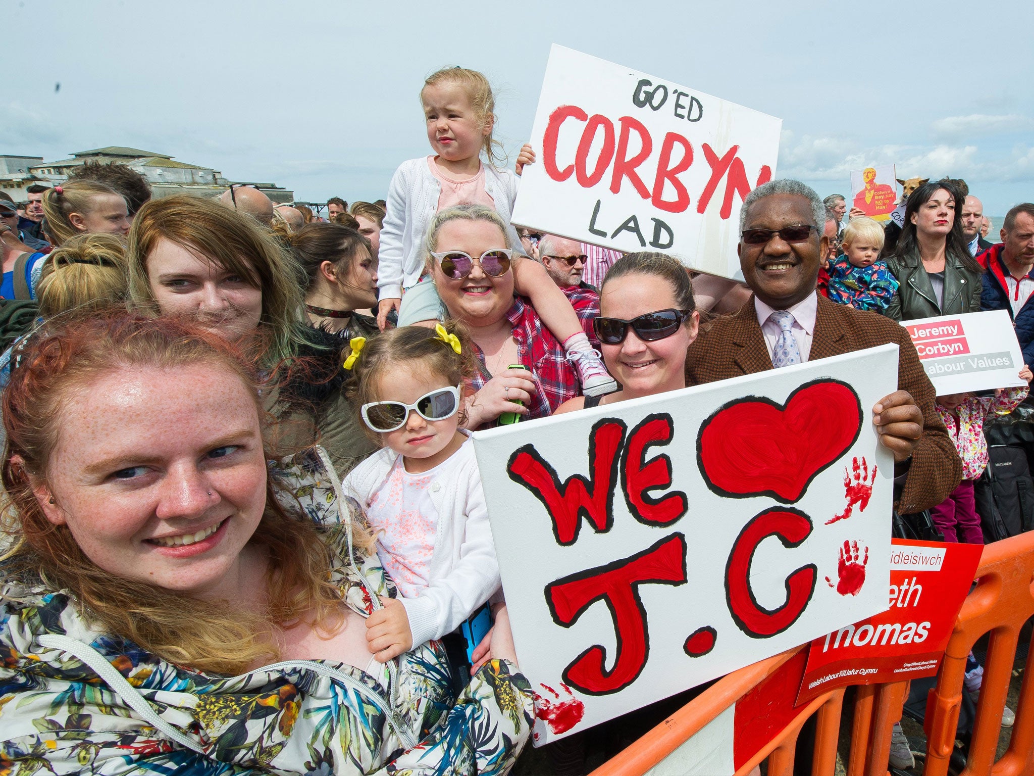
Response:
[[[1024,354],[1004,309],[903,321],[938,396],[1015,388]]]

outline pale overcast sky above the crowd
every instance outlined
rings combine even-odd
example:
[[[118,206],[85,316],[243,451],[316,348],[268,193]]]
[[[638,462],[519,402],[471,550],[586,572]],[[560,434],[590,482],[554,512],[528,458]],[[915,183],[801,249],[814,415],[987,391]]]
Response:
[[[0,153],[131,146],[372,200],[429,152],[418,94],[442,66],[489,77],[514,158],[557,42],[782,118],[777,177],[821,195],[893,162],[1001,215],[1034,200],[1032,25],[1031,0],[0,0]]]

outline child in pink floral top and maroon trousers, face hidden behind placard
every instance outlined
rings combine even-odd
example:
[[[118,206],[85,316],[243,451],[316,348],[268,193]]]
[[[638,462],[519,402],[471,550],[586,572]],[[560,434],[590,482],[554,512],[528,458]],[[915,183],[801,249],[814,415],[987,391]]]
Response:
[[[1020,378],[1030,383],[1030,368],[1024,364]],[[963,479],[951,495],[931,510],[934,525],[944,534],[945,541],[983,544],[980,517],[976,513],[973,483],[987,467],[987,442],[983,424],[992,415],[1008,415],[1027,397],[1030,389],[999,388],[994,396],[972,393],[950,393],[937,397],[937,412],[948,428],[963,459]]]

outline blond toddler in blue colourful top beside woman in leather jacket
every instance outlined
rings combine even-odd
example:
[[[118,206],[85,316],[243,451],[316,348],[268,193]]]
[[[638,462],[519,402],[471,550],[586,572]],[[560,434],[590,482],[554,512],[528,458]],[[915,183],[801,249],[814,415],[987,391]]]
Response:
[[[866,216],[852,218],[844,230],[844,253],[828,268],[826,295],[855,309],[882,312],[898,291],[898,280],[878,257],[883,228]]]

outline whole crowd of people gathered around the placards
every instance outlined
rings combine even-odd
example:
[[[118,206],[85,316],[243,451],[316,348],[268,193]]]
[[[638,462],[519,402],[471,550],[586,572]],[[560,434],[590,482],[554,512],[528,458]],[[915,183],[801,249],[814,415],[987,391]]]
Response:
[[[120,165],[0,192],[0,766],[506,773],[535,693],[470,439],[498,424],[893,342],[895,509],[982,541],[982,426],[1027,389],[936,395],[898,322],[1005,309],[1030,363],[1034,204],[987,243],[963,181],[899,227],[773,180],[736,283],[514,227],[535,152],[503,167],[487,80],[420,96],[431,153],[326,217]]]

